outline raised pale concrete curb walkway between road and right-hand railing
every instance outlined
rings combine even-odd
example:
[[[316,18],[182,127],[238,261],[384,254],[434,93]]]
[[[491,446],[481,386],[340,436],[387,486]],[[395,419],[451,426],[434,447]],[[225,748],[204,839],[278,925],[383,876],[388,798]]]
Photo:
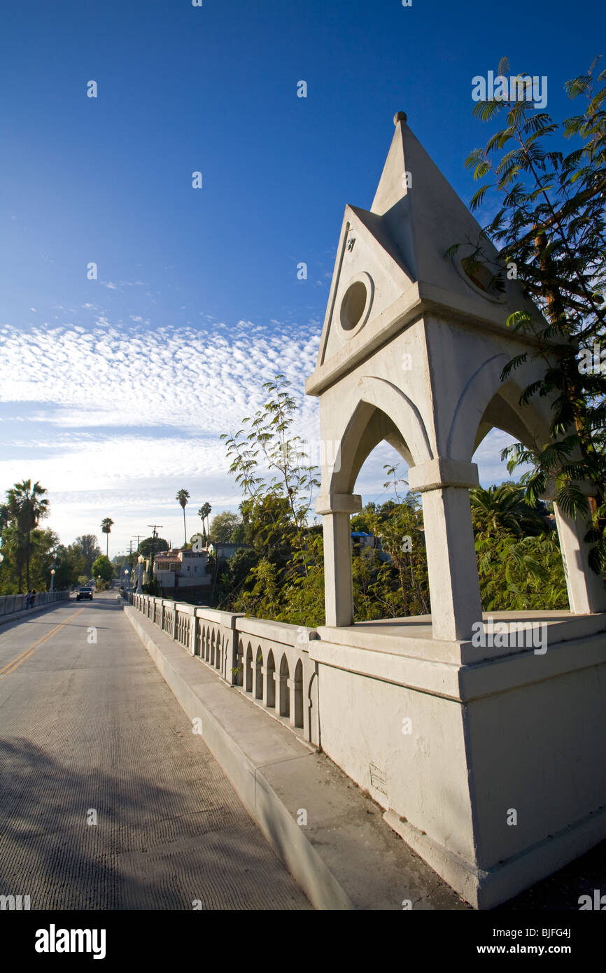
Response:
[[[178,703],[200,721],[204,742],[242,804],[316,909],[401,910],[403,900],[423,900],[421,909],[466,908],[325,754],[310,751],[134,608],[124,610]]]

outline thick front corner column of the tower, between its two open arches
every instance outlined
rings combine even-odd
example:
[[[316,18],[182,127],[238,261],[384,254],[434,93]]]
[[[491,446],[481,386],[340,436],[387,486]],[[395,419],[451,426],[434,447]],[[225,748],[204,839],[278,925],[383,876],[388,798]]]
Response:
[[[478,486],[478,467],[432,459],[410,467],[410,489],[423,496],[429,595],[434,638],[471,638],[481,622],[480,582],[468,490]]]

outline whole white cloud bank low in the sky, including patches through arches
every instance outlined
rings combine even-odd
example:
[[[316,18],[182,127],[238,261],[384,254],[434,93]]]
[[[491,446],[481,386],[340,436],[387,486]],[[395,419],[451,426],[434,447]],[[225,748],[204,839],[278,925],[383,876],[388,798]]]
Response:
[[[277,372],[301,404],[296,431],[317,439],[317,400],[303,385],[319,333],[317,320],[292,330],[250,321],[196,330],[135,320],[117,328],[102,313],[88,329],[4,325],[0,491],[23,478],[40,480],[50,491],[47,523],[66,543],[98,533],[100,516],[112,511],[113,547],[158,517],[163,532],[178,538],[177,486],[190,489],[194,510],[197,499],[210,499],[215,510],[237,505],[219,435],[262,405],[263,382]],[[504,436],[495,432],[481,445],[484,483],[507,476],[497,452],[509,441]],[[361,472],[357,488],[368,498],[384,494],[382,464],[394,458],[382,444]]]

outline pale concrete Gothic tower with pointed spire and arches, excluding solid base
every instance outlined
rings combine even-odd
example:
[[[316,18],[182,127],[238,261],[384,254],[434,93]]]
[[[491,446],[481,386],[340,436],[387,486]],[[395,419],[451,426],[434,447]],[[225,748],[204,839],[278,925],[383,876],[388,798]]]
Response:
[[[349,516],[361,509],[353,490],[384,439],[422,493],[433,637],[449,641],[469,638],[481,619],[469,504],[479,482],[474,451],[495,426],[541,449],[550,404],[519,405],[540,374],[536,359],[501,380],[515,355],[536,346],[506,326],[512,311],[532,306],[499,271],[488,241],[487,260],[465,265],[481,228],[404,112],[394,123],[371,209],[345,207],[317,366],[305,386],[320,398],[323,441],[340,444],[322,468],[316,508],[324,517],[326,624],[353,623]],[[606,610],[601,579],[588,569],[585,523],[558,512],[557,525],[571,611]]]

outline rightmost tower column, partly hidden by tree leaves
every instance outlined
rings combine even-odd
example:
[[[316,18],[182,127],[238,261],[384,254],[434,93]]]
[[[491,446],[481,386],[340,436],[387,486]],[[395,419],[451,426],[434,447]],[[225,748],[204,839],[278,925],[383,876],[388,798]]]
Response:
[[[606,589],[601,574],[595,574],[588,564],[591,548],[583,540],[588,531],[588,516],[568,517],[553,504],[559,546],[564,563],[566,588],[570,610],[574,615],[606,611]]]

